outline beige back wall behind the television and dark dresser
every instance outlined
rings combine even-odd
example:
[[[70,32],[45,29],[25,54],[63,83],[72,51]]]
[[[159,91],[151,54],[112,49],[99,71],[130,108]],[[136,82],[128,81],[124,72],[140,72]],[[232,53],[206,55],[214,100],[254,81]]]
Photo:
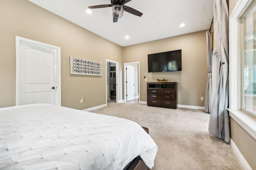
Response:
[[[182,71],[148,72],[148,54],[182,49]],[[208,76],[206,60],[206,30],[150,41],[123,48],[123,62],[140,62],[140,101],[147,101],[147,82],[158,78],[168,78],[168,82],[178,82],[178,104],[204,106],[200,97],[205,96]]]

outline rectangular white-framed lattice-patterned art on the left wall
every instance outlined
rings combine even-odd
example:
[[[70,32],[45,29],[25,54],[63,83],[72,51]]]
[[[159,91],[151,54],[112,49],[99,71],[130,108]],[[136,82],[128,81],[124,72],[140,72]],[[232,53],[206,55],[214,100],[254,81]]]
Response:
[[[70,56],[70,74],[102,76],[102,63]]]

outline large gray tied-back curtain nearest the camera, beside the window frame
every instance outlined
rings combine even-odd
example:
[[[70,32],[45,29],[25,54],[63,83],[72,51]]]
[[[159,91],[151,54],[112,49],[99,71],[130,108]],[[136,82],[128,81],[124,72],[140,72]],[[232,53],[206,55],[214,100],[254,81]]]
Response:
[[[230,142],[228,121],[228,5],[226,0],[214,0],[214,36],[221,62],[218,87],[212,104],[208,131]]]

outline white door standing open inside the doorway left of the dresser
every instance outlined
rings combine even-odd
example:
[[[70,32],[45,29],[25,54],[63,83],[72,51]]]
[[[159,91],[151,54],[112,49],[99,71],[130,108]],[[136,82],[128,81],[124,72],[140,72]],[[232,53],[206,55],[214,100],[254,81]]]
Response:
[[[126,65],[126,101],[134,100],[134,66]]]

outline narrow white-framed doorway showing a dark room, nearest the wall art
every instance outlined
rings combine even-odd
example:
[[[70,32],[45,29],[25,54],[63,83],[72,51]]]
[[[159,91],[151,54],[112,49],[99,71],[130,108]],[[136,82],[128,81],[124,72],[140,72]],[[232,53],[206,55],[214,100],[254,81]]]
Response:
[[[118,62],[106,60],[106,103],[118,103]]]

